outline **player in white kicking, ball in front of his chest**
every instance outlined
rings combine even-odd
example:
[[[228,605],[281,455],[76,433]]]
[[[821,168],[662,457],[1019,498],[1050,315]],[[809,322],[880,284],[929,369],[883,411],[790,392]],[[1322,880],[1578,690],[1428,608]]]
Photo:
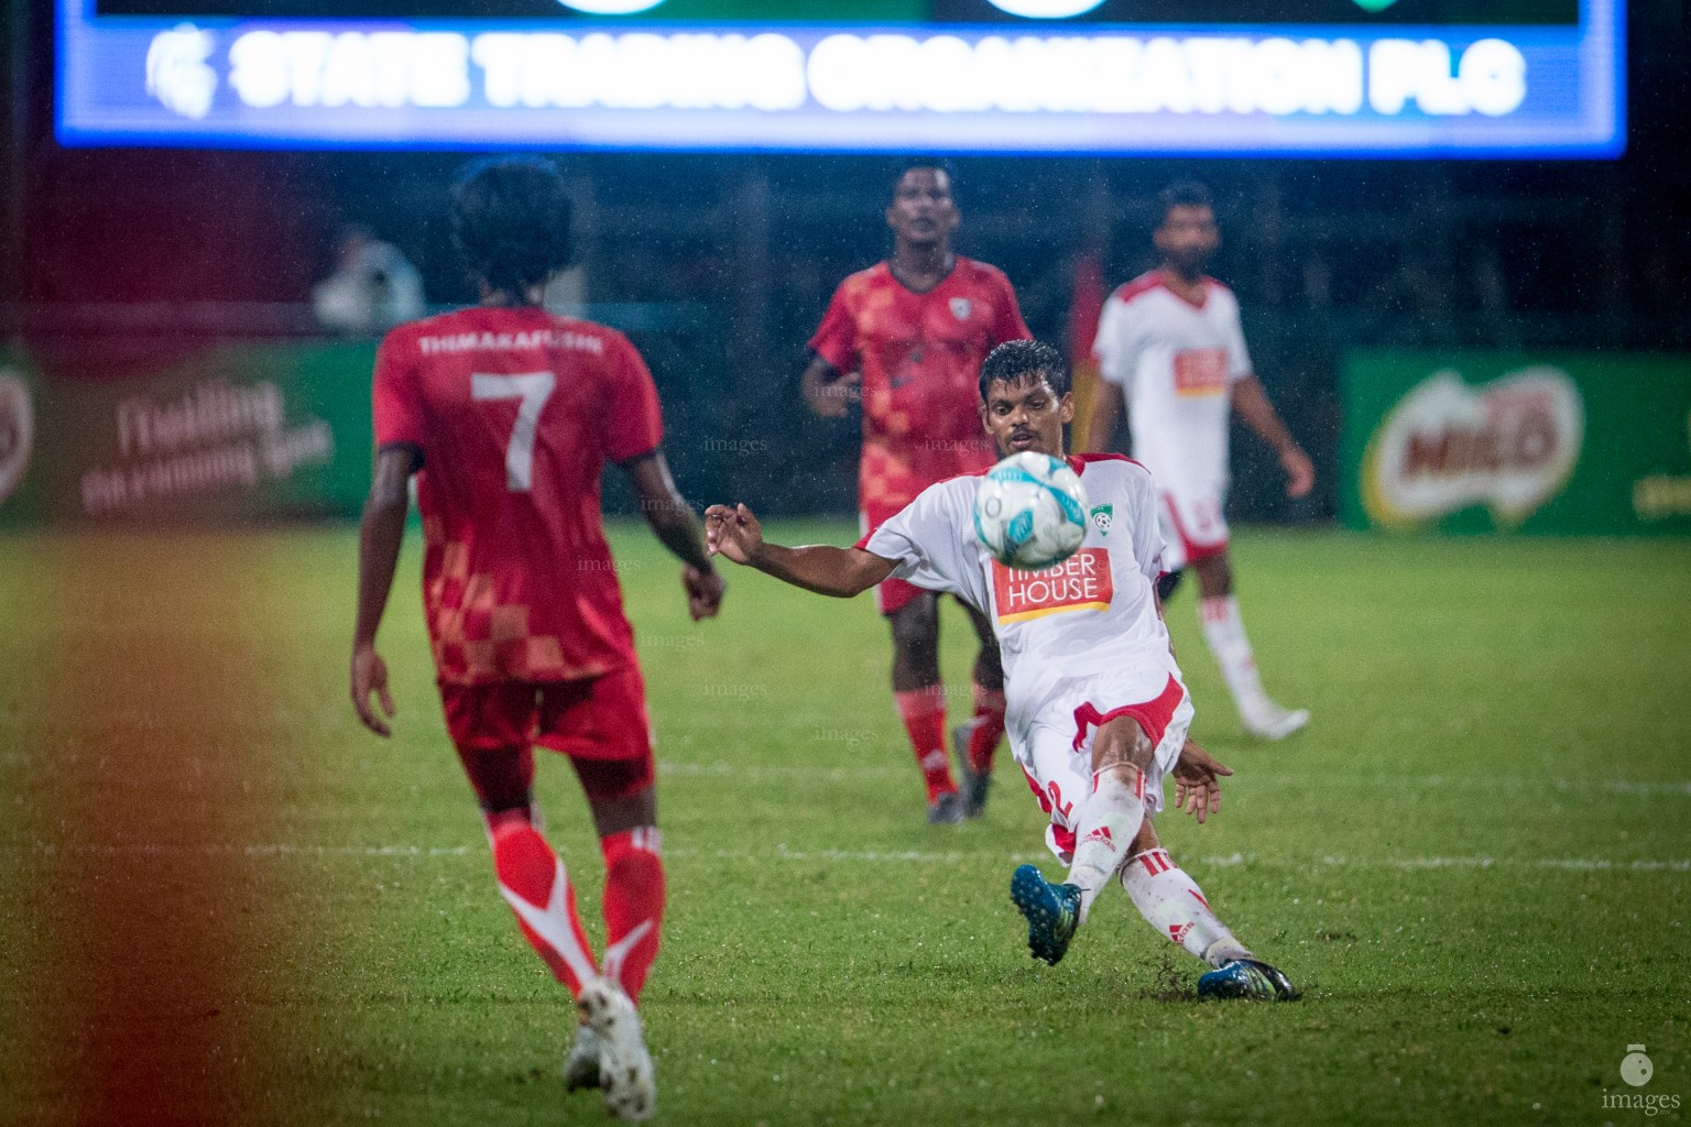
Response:
[[[1069,372],[1050,345],[1016,341],[981,367],[979,416],[1004,455],[1062,456],[1074,417]],[[1040,573],[994,561],[974,534],[981,475],[932,485],[856,547],[781,547],[746,505],[705,510],[712,553],[778,580],[849,598],[893,576],[950,591],[989,615],[1004,656],[1010,747],[1050,814],[1045,838],[1069,865],[1050,884],[1033,865],[1011,879],[1028,948],[1057,963],[1113,877],[1158,934],[1212,966],[1202,997],[1295,997],[1285,975],[1253,956],[1211,911],[1197,884],[1157,840],[1165,774],[1175,804],[1204,821],[1221,809],[1218,776],[1233,774],[1187,740],[1192,703],[1162,622],[1155,580],[1163,541],[1146,470],[1119,455],[1069,463],[1108,522]]]

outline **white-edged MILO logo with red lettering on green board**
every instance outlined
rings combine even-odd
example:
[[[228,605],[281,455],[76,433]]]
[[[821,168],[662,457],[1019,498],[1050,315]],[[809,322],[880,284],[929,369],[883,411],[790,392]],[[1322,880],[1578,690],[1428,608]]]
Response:
[[[1385,417],[1363,458],[1363,505],[1410,527],[1471,505],[1515,525],[1556,497],[1584,441],[1584,404],[1566,372],[1524,368],[1480,387],[1439,372]]]

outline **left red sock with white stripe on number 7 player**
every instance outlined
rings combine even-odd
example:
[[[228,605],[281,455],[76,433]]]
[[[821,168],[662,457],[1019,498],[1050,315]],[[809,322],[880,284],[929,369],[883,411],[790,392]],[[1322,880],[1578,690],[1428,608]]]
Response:
[[[580,994],[582,983],[597,972],[563,862],[526,818],[495,816],[489,823],[499,892],[551,973],[572,995]]]

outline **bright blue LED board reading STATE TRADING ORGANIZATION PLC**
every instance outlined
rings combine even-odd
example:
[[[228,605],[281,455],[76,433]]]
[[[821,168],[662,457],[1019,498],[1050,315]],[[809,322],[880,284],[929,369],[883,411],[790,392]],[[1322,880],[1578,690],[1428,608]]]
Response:
[[[56,123],[68,145],[1612,157],[1623,3],[57,0]]]

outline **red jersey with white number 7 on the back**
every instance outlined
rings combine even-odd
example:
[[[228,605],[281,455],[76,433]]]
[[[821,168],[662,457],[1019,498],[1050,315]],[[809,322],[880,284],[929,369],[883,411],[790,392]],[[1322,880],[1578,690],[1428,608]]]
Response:
[[[382,341],[374,400],[377,446],[423,453],[440,681],[570,681],[634,661],[599,478],[656,449],[663,419],[627,338],[536,308],[413,321]]]

